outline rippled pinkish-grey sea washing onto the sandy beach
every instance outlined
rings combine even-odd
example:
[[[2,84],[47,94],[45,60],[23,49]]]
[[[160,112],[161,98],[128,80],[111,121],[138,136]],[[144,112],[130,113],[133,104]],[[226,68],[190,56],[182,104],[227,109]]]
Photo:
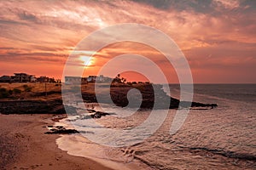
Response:
[[[179,98],[179,85],[169,87],[171,96]],[[148,138],[139,134],[145,129],[137,131],[137,139],[142,139],[137,144],[110,147],[81,134],[62,135],[56,144],[70,155],[88,157],[116,169],[256,169],[256,84],[195,84],[193,100],[216,103],[218,107],[190,110],[183,126],[172,135],[169,130],[177,110],[167,111],[165,121]],[[106,107],[109,112],[120,110]],[[161,111],[154,114],[158,114],[158,119]],[[101,131],[103,127],[137,127],[149,115],[150,111],[145,110],[127,117],[103,116],[96,120],[102,127],[90,126],[88,120],[79,116],[69,116],[57,124],[76,126],[90,133],[92,128]],[[128,141],[131,136],[120,139]]]

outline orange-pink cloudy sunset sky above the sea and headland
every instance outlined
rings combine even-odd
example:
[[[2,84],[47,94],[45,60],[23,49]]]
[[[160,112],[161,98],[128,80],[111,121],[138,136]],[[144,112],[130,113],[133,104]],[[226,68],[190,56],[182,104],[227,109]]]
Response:
[[[26,72],[61,78],[68,56],[85,37],[108,26],[137,23],[154,27],[176,42],[195,83],[256,83],[254,0],[14,0],[0,1],[0,8],[0,76]],[[108,44],[90,60],[79,56],[80,64],[87,65],[84,75],[96,75],[119,54],[146,56],[160,66],[169,82],[178,82],[163,54],[137,42]],[[142,78],[123,75],[130,81]]]

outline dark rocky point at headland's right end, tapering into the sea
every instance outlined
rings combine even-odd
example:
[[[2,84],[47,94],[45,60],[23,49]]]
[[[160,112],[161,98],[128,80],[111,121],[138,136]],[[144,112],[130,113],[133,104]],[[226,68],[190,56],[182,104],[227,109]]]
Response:
[[[104,87],[102,87],[104,88]],[[129,100],[127,99],[128,92],[132,89],[136,88],[140,91],[141,94],[135,94],[132,95],[132,103],[129,104]],[[102,93],[101,96],[101,102],[109,104],[108,99],[108,91],[101,90]],[[154,92],[155,91],[155,92]],[[140,95],[143,97],[143,101],[140,101]],[[129,105],[130,107],[137,107],[137,103],[142,103],[140,105],[140,108],[142,109],[166,109],[166,104],[164,102],[158,102],[155,103],[154,101],[167,101],[170,100],[169,109],[178,109],[178,108],[196,108],[196,107],[203,107],[205,109],[212,109],[214,107],[217,107],[217,104],[203,104],[199,102],[187,102],[187,101],[179,101],[178,99],[172,98],[169,95],[167,95],[163,90],[162,86],[160,85],[154,85],[154,84],[137,84],[137,85],[123,85],[122,87],[114,85],[110,88],[110,96],[115,105],[118,105],[120,107],[125,107]],[[93,102],[96,103],[96,95],[93,93],[82,93],[82,97],[85,102]]]

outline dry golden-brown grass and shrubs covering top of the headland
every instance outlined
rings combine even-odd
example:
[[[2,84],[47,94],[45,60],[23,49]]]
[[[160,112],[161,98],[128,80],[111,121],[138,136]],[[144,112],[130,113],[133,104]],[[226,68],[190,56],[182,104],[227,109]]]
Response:
[[[145,82],[143,82],[145,83]],[[61,99],[61,83],[50,82],[15,82],[0,83],[0,99]],[[137,82],[126,82],[124,77],[117,75],[113,79],[111,88],[137,88],[138,85],[143,85]],[[104,83],[101,84],[104,87]],[[79,92],[91,94],[94,92],[94,83],[82,84],[70,84],[62,87],[67,92],[73,92],[75,94]],[[81,89],[80,89],[81,88]],[[140,88],[140,87],[139,87]],[[81,90],[81,91],[80,91]]]

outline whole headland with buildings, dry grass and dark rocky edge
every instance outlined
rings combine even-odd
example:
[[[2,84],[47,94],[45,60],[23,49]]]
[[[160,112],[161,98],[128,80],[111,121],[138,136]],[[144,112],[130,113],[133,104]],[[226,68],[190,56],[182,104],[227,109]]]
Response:
[[[164,105],[154,105],[155,99],[170,100],[169,109],[212,109],[217,106],[217,104],[180,101],[167,95],[160,84],[126,82],[126,79],[120,77],[120,75],[114,78],[104,76],[65,77],[65,82],[61,83],[47,77],[44,77],[44,81],[40,81],[42,77],[37,79],[26,73],[15,73],[11,80],[9,81],[11,83],[0,83],[0,113],[3,114],[66,113],[61,96],[63,91],[67,94],[78,95],[78,97],[79,94],[76,93],[80,91],[82,101],[79,102],[97,103],[95,82],[100,82],[100,87],[103,89],[102,94],[100,94],[102,96],[101,102],[108,104],[108,96],[110,94],[113,104],[120,107],[125,107],[129,104],[127,94],[132,88],[136,88],[143,97],[143,100],[139,101],[139,96],[132,96],[133,102],[141,102],[141,109],[166,109]],[[107,82],[110,82],[110,92],[106,90],[109,88],[109,83]],[[133,105],[129,106],[132,107]],[[73,108],[73,110],[75,109]]]

